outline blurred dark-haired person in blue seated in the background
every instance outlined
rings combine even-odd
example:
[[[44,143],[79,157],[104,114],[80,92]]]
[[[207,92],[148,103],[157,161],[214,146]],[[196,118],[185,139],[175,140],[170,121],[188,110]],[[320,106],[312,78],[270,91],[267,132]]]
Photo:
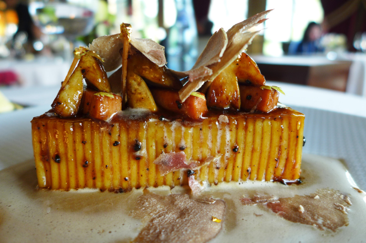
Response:
[[[302,41],[291,42],[288,54],[312,54],[324,52],[320,40],[322,37],[322,28],[320,24],[310,22],[304,32]]]

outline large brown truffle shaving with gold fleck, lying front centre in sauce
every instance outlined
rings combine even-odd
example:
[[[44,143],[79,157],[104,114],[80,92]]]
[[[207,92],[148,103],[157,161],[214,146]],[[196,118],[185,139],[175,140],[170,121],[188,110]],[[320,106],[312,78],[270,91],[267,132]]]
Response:
[[[223,200],[206,203],[186,195],[144,193],[131,212],[143,224],[132,242],[208,242],[219,233],[225,208]]]

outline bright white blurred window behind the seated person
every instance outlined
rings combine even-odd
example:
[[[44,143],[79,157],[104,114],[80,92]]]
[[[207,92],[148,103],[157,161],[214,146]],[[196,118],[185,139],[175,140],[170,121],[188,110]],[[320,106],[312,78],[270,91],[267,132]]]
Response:
[[[263,53],[270,56],[283,54],[282,43],[300,41],[309,22],[324,18],[320,0],[267,0],[266,9],[273,8],[264,30]]]

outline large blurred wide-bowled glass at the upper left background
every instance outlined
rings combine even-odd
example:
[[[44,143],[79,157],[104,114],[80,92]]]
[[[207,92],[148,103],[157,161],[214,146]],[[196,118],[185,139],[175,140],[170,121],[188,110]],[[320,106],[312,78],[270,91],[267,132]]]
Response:
[[[68,40],[65,54],[71,54],[75,38],[88,34],[94,26],[97,0],[30,0],[29,13],[42,33]],[[68,54],[69,53],[69,54]]]

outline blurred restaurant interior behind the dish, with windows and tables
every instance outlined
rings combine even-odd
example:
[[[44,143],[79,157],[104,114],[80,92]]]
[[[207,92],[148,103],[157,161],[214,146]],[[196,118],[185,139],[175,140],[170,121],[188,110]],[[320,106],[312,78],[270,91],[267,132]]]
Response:
[[[0,99],[60,86],[75,46],[119,33],[122,22],[164,45],[168,67],[183,71],[214,31],[272,8],[246,50],[266,80],[366,98],[366,0],[0,0]],[[310,22],[321,26],[321,48],[296,53]]]

